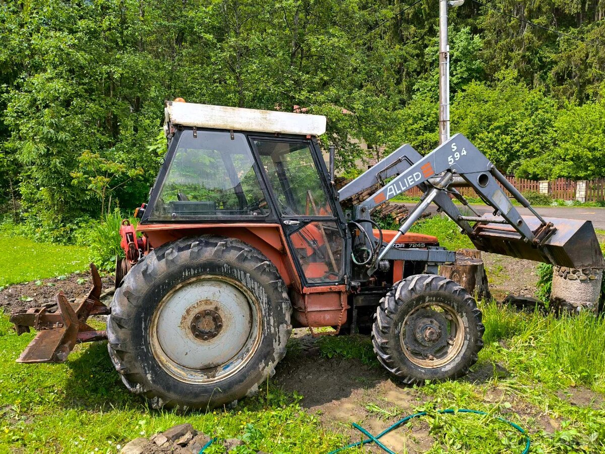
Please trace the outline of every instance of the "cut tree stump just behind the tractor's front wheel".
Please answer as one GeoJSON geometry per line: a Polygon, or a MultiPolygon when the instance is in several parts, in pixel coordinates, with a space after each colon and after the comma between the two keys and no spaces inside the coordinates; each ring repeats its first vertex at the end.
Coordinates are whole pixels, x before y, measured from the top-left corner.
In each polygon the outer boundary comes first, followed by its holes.
{"type": "Polygon", "coordinates": [[[442,265],[440,275],[463,286],[476,300],[490,299],[488,277],[481,260],[481,251],[460,249],[456,252],[456,263],[442,265]]]}

